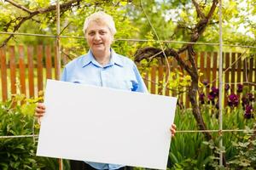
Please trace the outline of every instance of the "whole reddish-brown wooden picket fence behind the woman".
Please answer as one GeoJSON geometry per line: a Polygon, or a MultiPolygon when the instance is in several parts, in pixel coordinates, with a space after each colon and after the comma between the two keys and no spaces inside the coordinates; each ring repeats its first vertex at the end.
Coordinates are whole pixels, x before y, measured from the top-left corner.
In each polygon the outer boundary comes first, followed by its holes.
{"type": "MultiPolygon", "coordinates": [[[[253,55],[253,57],[246,58],[244,54],[224,53],[223,80],[225,83],[230,83],[234,92],[236,92],[236,83],[238,82],[247,82],[243,84],[256,90],[256,54],[253,55]]],[[[186,54],[183,54],[182,57],[186,58],[186,54]]],[[[201,82],[210,82],[210,87],[218,86],[218,53],[200,52],[197,53],[195,59],[198,69],[202,73],[201,82]]],[[[66,63],[67,58],[61,56],[61,61],[62,64],[66,63]]],[[[171,72],[183,72],[174,59],[169,61],[171,72]]],[[[59,78],[56,72],[56,62],[55,48],[52,46],[0,48],[0,94],[2,100],[9,99],[11,94],[16,94],[17,89],[20,90],[21,94],[26,94],[27,97],[38,96],[38,92],[44,90],[46,79],[59,78]]],[[[186,93],[178,94],[169,86],[163,90],[162,84],[166,81],[166,70],[166,65],[160,65],[152,66],[148,71],[143,71],[143,79],[148,91],[151,94],[178,95],[179,101],[189,107],[186,93]]],[[[206,91],[208,94],[210,88],[207,88],[206,91]]],[[[227,102],[226,98],[224,102],[227,102]]]]}

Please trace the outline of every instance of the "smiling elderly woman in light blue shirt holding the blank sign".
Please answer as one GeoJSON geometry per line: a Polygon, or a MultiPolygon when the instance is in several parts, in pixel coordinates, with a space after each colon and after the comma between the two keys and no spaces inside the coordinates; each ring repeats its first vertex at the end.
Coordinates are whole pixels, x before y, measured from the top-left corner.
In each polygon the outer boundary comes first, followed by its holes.
{"type": "MultiPolygon", "coordinates": [[[[110,47],[115,33],[112,16],[104,12],[96,12],[86,18],[84,35],[90,50],[87,54],[73,59],[65,66],[61,81],[148,93],[134,62],[127,57],[116,54],[110,47]]],[[[35,115],[40,118],[44,116],[44,112],[44,104],[38,104],[35,115]]],[[[172,136],[175,129],[175,125],[172,125],[170,128],[172,136]]],[[[128,169],[123,165],[71,161],[72,169],[75,169],[76,166],[79,166],[77,167],[79,170],[128,169]]]]}

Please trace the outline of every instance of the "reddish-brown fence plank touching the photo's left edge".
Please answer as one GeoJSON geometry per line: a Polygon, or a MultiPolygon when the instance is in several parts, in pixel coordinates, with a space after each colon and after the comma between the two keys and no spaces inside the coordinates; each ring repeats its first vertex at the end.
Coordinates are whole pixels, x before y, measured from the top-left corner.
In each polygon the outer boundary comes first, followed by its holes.
{"type": "Polygon", "coordinates": [[[6,50],[5,48],[0,48],[0,61],[1,61],[1,83],[2,83],[2,100],[6,101],[8,99],[7,94],[7,67],[6,67],[6,50]]]}

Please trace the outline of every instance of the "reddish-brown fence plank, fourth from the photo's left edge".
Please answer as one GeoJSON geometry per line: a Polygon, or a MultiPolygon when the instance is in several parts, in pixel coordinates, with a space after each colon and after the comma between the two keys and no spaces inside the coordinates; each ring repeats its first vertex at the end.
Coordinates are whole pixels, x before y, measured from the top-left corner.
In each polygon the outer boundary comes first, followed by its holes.
{"type": "Polygon", "coordinates": [[[27,47],[28,87],[29,97],[34,97],[34,74],[33,74],[33,47],[27,47]]]}

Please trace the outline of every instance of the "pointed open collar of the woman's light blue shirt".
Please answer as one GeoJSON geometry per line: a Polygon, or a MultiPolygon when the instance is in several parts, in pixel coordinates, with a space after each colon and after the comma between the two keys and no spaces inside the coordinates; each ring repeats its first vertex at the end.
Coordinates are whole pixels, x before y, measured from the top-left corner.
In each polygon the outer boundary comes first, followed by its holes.
{"type": "MultiPolygon", "coordinates": [[[[123,62],[120,59],[120,57],[118,56],[118,54],[116,54],[113,50],[113,48],[110,49],[111,51],[111,58],[110,61],[108,63],[108,65],[106,66],[110,66],[110,65],[119,65],[119,66],[123,66],[123,62]]],[[[99,63],[96,61],[96,59],[94,58],[93,54],[91,53],[91,50],[89,50],[89,52],[87,54],[84,55],[83,60],[82,60],[82,65],[83,67],[86,65],[89,65],[90,63],[93,63],[94,65],[100,66],[99,63]]]]}

